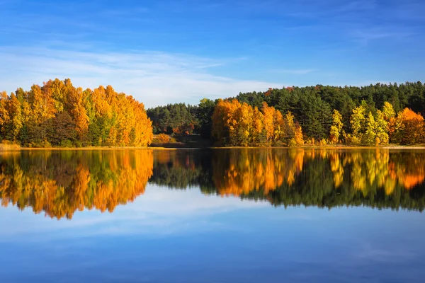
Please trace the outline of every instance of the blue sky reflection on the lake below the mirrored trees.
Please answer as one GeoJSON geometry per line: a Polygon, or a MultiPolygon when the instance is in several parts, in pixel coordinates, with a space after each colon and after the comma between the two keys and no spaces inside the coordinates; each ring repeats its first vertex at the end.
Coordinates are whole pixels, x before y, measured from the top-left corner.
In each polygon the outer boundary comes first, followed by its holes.
{"type": "Polygon", "coordinates": [[[425,216],[147,185],[71,221],[0,208],[0,282],[420,282],[425,216]]]}

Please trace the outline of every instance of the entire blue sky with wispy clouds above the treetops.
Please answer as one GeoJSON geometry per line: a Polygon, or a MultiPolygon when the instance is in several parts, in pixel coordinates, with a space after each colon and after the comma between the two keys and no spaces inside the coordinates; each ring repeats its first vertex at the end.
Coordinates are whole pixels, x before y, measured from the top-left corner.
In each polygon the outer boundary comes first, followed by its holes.
{"type": "Polygon", "coordinates": [[[0,0],[0,90],[111,84],[147,107],[424,81],[425,1],[0,0]]]}

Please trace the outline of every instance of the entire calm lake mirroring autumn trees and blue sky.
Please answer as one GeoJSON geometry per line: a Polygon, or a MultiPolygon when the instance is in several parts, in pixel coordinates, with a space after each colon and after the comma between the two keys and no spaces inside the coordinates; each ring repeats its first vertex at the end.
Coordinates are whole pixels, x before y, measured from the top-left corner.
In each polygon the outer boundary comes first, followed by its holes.
{"type": "Polygon", "coordinates": [[[424,282],[425,151],[0,153],[0,282],[424,282]]]}

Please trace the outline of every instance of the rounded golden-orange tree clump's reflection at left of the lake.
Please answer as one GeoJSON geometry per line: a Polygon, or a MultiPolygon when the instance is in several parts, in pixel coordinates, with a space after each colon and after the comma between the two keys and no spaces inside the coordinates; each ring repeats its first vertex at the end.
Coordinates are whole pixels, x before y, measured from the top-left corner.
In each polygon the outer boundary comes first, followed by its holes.
{"type": "Polygon", "coordinates": [[[23,151],[1,155],[1,204],[58,219],[79,209],[112,212],[145,192],[152,151],[23,151]]]}

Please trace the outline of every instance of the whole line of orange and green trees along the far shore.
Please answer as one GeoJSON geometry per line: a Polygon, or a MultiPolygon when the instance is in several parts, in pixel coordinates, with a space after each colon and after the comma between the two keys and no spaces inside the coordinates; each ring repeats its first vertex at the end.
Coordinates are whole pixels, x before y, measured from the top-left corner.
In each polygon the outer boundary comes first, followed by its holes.
{"type": "Polygon", "coordinates": [[[0,138],[30,147],[148,146],[153,134],[162,143],[195,134],[217,146],[421,144],[424,115],[421,82],[269,88],[145,111],[111,86],[55,79],[0,93],[0,138]]]}

